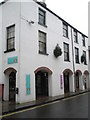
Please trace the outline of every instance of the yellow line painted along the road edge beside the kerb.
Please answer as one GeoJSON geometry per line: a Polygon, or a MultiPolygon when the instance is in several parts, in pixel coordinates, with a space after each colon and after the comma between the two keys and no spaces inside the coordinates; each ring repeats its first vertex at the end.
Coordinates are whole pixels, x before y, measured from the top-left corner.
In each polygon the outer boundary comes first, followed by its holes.
{"type": "Polygon", "coordinates": [[[9,116],[12,116],[12,115],[15,115],[15,114],[19,114],[19,113],[23,113],[23,112],[26,112],[26,111],[31,111],[31,110],[34,110],[34,109],[37,109],[37,108],[41,108],[41,107],[45,107],[45,106],[52,105],[52,104],[55,104],[55,103],[59,103],[60,101],[65,101],[65,100],[73,99],[73,98],[82,96],[84,94],[88,94],[88,93],[83,93],[83,94],[80,94],[80,95],[77,95],[77,96],[73,96],[73,97],[69,97],[69,98],[64,98],[62,100],[58,100],[58,101],[55,101],[55,102],[47,103],[47,104],[44,104],[44,105],[40,105],[40,106],[36,106],[36,107],[25,109],[25,110],[21,110],[21,111],[9,113],[9,114],[0,116],[0,118],[9,117],[9,116]]]}

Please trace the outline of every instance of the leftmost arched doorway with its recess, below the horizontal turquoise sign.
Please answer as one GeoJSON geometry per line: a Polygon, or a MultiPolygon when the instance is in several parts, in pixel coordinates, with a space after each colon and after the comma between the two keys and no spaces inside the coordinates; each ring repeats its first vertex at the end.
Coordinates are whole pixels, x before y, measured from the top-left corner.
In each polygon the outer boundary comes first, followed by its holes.
{"type": "Polygon", "coordinates": [[[16,72],[14,68],[4,71],[4,98],[10,102],[16,102],[16,72]]]}

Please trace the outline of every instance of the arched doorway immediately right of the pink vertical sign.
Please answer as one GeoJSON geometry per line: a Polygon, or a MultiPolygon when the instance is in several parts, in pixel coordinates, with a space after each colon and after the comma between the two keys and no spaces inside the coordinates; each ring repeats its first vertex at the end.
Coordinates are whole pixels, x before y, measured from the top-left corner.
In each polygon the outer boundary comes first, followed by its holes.
{"type": "Polygon", "coordinates": [[[72,75],[73,72],[70,69],[65,69],[63,72],[64,93],[69,93],[72,89],[72,75]]]}

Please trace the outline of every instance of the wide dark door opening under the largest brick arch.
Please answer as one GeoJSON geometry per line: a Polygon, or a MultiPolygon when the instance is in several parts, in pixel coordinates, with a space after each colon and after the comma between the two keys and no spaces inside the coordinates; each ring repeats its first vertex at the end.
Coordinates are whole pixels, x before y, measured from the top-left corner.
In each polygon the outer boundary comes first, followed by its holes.
{"type": "Polygon", "coordinates": [[[36,99],[48,96],[48,73],[39,71],[35,77],[36,77],[36,99]]]}

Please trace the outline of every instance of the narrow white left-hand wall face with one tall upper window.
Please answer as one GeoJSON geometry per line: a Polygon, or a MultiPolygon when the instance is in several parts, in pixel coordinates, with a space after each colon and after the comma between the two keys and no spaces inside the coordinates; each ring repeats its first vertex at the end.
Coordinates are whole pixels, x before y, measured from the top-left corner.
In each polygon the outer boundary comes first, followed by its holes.
{"type": "MultiPolygon", "coordinates": [[[[2,64],[2,75],[3,75],[3,83],[5,84],[6,88],[8,87],[6,84],[8,83],[9,79],[7,77],[7,79],[5,78],[5,74],[4,71],[7,68],[14,68],[17,71],[17,74],[19,74],[19,62],[20,62],[20,57],[19,57],[19,52],[20,52],[20,44],[19,44],[19,39],[20,39],[20,3],[19,2],[6,2],[4,5],[2,5],[2,60],[3,60],[3,64],[2,64]],[[7,34],[6,34],[6,28],[8,26],[11,26],[15,24],[15,51],[13,52],[8,52],[8,53],[4,53],[4,51],[6,51],[6,45],[7,45],[7,34]],[[9,57],[14,57],[14,56],[18,56],[18,63],[16,64],[8,64],[8,58],[9,57]]],[[[16,86],[19,87],[19,75],[17,75],[17,81],[16,81],[16,86]]],[[[4,98],[5,100],[8,100],[8,91],[4,87],[4,98]]],[[[17,98],[17,101],[18,98],[17,98]]]]}

